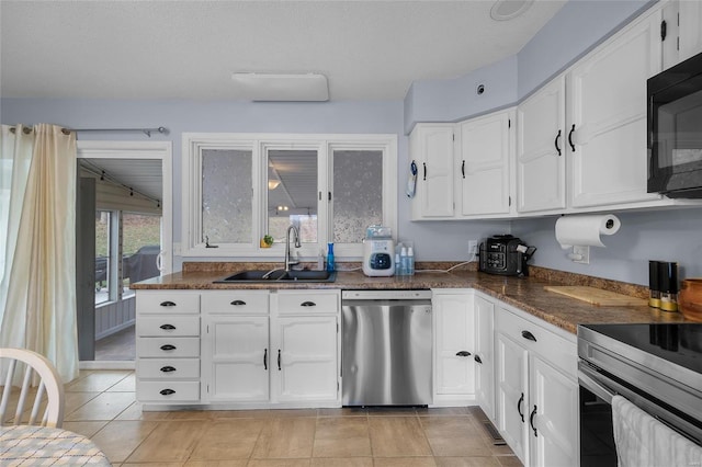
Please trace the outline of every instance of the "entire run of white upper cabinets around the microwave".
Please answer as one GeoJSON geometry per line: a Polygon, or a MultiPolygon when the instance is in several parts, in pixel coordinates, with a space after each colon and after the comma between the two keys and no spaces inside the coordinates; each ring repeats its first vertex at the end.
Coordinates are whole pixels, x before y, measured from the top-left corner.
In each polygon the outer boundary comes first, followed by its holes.
{"type": "Polygon", "coordinates": [[[516,111],[417,124],[412,220],[699,205],[647,191],[646,81],[702,50],[701,25],[702,2],[661,2],[516,111]]]}

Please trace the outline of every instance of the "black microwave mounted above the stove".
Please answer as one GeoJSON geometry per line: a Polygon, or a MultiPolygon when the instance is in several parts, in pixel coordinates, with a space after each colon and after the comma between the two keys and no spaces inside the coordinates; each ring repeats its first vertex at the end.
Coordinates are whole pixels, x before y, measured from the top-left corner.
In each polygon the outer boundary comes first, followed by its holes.
{"type": "Polygon", "coordinates": [[[649,78],[648,192],[702,198],[702,54],[649,78]]]}

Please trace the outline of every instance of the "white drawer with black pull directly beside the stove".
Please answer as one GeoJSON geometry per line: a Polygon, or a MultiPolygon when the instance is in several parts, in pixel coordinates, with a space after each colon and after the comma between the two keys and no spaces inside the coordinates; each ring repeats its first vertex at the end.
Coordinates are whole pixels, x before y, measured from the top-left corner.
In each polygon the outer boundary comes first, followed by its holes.
{"type": "Polygon", "coordinates": [[[502,307],[497,308],[497,329],[530,352],[575,376],[577,372],[577,345],[547,329],[533,323],[502,307]]]}

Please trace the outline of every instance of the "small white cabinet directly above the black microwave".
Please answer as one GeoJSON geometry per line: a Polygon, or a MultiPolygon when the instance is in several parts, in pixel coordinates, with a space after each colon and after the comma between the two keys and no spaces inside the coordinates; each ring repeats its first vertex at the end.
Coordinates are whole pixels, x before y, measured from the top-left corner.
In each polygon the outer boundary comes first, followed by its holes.
{"type": "Polygon", "coordinates": [[[702,52],[702,2],[669,0],[664,3],[663,68],[667,69],[702,52]]]}

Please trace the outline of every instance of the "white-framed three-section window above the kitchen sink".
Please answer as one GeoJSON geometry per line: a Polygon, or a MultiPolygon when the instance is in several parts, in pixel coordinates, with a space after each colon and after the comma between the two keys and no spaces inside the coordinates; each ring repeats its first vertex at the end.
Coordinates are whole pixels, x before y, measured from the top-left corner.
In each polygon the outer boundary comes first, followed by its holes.
{"type": "Polygon", "coordinates": [[[395,135],[183,135],[183,255],[282,257],[287,227],[299,255],[333,242],[360,258],[369,225],[397,231],[395,135]],[[270,235],[272,248],[261,248],[270,235]]]}

